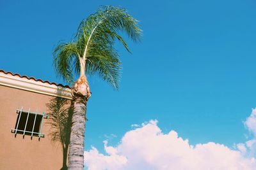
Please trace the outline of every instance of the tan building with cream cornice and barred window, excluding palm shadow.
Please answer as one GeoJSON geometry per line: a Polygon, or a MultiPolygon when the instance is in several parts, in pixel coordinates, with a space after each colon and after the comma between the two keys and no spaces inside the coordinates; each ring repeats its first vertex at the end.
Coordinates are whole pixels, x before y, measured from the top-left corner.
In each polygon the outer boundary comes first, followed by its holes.
{"type": "Polygon", "coordinates": [[[60,143],[47,124],[52,97],[71,99],[70,87],[0,70],[0,169],[61,169],[60,143]]]}

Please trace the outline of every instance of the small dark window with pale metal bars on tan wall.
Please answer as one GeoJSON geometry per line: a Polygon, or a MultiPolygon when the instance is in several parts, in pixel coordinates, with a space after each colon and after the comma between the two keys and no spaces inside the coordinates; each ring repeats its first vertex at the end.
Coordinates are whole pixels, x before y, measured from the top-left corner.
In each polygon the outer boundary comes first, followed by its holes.
{"type": "Polygon", "coordinates": [[[45,134],[42,133],[44,118],[48,118],[49,115],[43,113],[37,113],[30,111],[17,110],[16,113],[18,114],[17,122],[15,125],[15,129],[11,129],[12,133],[15,133],[15,137],[17,134],[23,134],[23,138],[25,135],[31,136],[38,136],[38,138],[44,138],[45,134]]]}

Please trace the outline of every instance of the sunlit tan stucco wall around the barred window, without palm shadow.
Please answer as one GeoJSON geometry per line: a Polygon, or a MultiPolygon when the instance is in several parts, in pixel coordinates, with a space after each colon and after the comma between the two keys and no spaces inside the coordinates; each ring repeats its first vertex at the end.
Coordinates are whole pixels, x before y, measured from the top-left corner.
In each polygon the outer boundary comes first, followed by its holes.
{"type": "Polygon", "coordinates": [[[16,110],[47,112],[46,103],[51,96],[0,85],[0,169],[61,169],[62,150],[60,144],[51,143],[47,119],[42,132],[45,138],[15,135],[16,110]]]}

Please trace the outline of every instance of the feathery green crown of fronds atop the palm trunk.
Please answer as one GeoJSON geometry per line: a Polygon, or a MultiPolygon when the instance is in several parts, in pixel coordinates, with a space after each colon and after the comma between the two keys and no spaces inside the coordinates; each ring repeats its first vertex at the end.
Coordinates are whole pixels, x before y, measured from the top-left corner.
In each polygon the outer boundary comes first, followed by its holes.
{"type": "Polygon", "coordinates": [[[140,40],[138,20],[131,17],[127,10],[102,6],[81,22],[72,42],[56,46],[53,54],[58,76],[73,83],[73,70],[80,77],[98,74],[114,89],[118,89],[121,62],[114,48],[115,41],[120,41],[130,52],[119,31],[125,32],[133,41],[140,40]]]}

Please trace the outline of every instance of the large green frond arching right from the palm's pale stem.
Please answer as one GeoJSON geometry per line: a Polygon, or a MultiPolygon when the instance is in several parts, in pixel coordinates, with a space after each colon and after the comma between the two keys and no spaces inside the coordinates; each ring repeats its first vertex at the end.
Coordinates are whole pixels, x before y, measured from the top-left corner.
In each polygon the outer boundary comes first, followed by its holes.
{"type": "Polygon", "coordinates": [[[123,8],[103,6],[83,22],[77,36],[84,38],[87,43],[86,51],[83,53],[86,58],[86,73],[98,73],[103,80],[117,89],[121,62],[113,45],[115,40],[118,40],[130,52],[127,43],[118,35],[118,31],[124,31],[129,38],[138,41],[141,36],[138,21],[123,8]]]}

